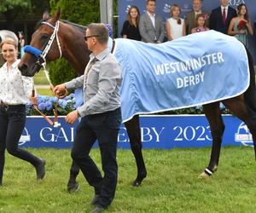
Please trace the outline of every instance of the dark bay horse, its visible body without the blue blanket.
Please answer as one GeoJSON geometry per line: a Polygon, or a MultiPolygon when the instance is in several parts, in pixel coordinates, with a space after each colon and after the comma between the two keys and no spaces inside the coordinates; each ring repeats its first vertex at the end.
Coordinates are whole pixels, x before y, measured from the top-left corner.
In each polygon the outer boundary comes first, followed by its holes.
{"type": "MultiPolygon", "coordinates": [[[[67,21],[59,21],[60,14],[61,12],[58,10],[52,18],[41,22],[36,32],[33,33],[31,45],[36,49],[44,51],[52,35],[55,35],[54,42],[46,55],[43,53],[43,56],[40,56],[39,58],[28,53],[24,55],[19,65],[22,75],[33,76],[35,72],[40,70],[42,62],[57,60],[61,55],[70,62],[79,74],[84,73],[84,67],[89,60],[88,55],[90,54],[86,43],[84,43],[85,28],[67,21]]],[[[249,87],[244,94],[223,100],[222,103],[225,107],[230,109],[236,117],[240,118],[245,124],[247,124],[248,129],[253,135],[254,153],[256,155],[256,91],[253,59],[248,51],[247,57],[250,69],[249,87]]],[[[212,87],[213,86],[214,83],[212,83],[212,87]]],[[[219,110],[219,104],[220,101],[216,101],[203,106],[212,132],[212,153],[207,169],[201,173],[201,177],[211,176],[218,168],[222,136],[224,135],[224,122],[219,110]]],[[[138,116],[135,116],[128,122],[125,122],[125,127],[130,138],[131,150],[137,163],[137,178],[133,182],[133,186],[139,186],[147,176],[147,170],[143,161],[138,116]]],[[[75,166],[73,166],[73,168],[75,168],[75,166]]],[[[75,178],[78,173],[77,170],[73,172],[73,168],[71,169],[72,180],[74,180],[73,178],[75,178]]]]}

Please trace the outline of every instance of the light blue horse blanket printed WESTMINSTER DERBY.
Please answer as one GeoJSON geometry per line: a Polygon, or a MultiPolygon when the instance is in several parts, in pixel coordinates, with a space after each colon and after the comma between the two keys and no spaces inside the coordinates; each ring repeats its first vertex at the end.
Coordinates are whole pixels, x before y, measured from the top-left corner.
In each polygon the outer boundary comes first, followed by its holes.
{"type": "Polygon", "coordinates": [[[116,39],[113,55],[123,68],[123,121],[222,101],[249,86],[249,66],[236,37],[208,31],[154,44],[116,39]]]}

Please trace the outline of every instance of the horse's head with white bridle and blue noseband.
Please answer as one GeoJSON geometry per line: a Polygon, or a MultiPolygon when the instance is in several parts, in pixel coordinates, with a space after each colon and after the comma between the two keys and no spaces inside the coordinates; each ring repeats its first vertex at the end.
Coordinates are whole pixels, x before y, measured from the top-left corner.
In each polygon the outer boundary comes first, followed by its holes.
{"type": "Polygon", "coordinates": [[[60,9],[52,18],[44,14],[44,20],[38,24],[30,45],[25,48],[26,54],[20,60],[18,67],[22,75],[32,77],[44,62],[61,57],[62,41],[61,33],[58,32],[60,16],[60,9]]]}

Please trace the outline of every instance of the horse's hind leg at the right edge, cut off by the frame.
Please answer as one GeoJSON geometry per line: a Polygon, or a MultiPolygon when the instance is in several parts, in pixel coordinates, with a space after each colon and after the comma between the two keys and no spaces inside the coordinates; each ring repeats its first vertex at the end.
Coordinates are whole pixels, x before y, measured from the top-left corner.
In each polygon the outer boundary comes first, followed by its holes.
{"type": "Polygon", "coordinates": [[[223,103],[224,106],[230,109],[237,118],[240,118],[245,124],[247,124],[247,128],[253,135],[254,153],[256,158],[256,112],[245,104],[243,95],[225,100],[223,103]]]}

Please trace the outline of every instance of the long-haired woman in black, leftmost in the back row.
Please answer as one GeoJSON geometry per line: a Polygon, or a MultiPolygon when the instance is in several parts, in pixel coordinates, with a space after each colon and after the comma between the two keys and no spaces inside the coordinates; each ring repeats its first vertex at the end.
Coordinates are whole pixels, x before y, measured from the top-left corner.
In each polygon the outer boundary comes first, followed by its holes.
{"type": "Polygon", "coordinates": [[[125,20],[121,36],[124,38],[130,38],[133,40],[141,41],[142,37],[139,32],[139,20],[140,11],[136,6],[131,6],[127,14],[127,20],[125,20]]]}

